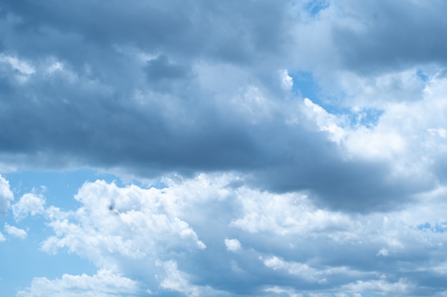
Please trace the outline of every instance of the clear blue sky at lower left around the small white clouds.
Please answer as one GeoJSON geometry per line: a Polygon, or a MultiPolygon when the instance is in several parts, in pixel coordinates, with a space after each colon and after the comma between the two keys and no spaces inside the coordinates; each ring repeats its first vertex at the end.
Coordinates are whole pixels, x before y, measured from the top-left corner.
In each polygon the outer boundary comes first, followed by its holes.
{"type": "MultiPolygon", "coordinates": [[[[116,182],[122,186],[121,180],[113,174],[103,174],[90,169],[81,169],[68,172],[57,171],[23,171],[2,174],[9,181],[11,191],[14,193],[14,202],[19,202],[26,193],[41,194],[46,200],[46,207],[50,205],[64,210],[74,210],[81,204],[74,199],[74,195],[85,182],[94,182],[104,179],[106,182],[116,182]]],[[[2,296],[16,296],[18,290],[24,289],[33,277],[59,278],[64,273],[93,275],[96,268],[86,259],[76,254],[67,254],[59,251],[55,255],[41,251],[41,243],[49,236],[54,235],[53,229],[46,225],[42,215],[26,217],[16,222],[12,212],[0,222],[0,231],[6,241],[0,243],[0,287],[2,296]],[[4,231],[8,224],[26,231],[26,238],[20,239],[4,231]],[[2,283],[8,286],[2,286],[2,283]]]]}

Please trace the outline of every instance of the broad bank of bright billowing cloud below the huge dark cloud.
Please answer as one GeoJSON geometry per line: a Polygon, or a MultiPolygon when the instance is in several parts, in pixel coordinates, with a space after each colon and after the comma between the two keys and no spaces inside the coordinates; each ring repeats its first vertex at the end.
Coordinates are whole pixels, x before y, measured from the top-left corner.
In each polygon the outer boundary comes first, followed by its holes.
{"type": "Polygon", "coordinates": [[[446,188],[396,212],[359,216],[318,209],[305,193],[232,186],[237,180],[201,174],[165,179],[163,189],[87,182],[79,209],[45,209],[54,236],[41,249],[89,259],[99,274],[35,278],[19,296],[70,294],[78,290],[71,278],[99,296],[447,293],[446,188]],[[117,282],[91,284],[106,276],[117,282]]]}

